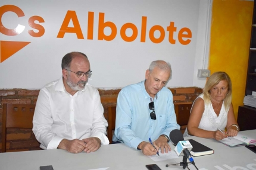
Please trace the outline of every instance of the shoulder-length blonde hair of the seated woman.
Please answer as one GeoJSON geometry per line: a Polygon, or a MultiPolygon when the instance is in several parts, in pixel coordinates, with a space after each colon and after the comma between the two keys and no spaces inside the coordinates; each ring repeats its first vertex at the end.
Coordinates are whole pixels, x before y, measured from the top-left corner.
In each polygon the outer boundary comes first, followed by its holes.
{"type": "Polygon", "coordinates": [[[205,104],[211,104],[211,94],[210,94],[210,89],[213,88],[213,86],[217,85],[220,81],[226,80],[227,81],[227,95],[226,98],[224,99],[224,106],[227,110],[229,108],[229,105],[232,102],[232,82],[227,75],[226,72],[215,72],[213,75],[210,76],[208,81],[205,84],[203,94],[204,94],[204,101],[205,104]]]}

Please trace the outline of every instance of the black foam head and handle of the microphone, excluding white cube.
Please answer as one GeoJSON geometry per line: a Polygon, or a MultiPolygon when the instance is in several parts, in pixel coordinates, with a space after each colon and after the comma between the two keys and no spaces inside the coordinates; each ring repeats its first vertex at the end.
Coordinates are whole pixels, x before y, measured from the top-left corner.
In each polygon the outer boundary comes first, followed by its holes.
{"type": "MultiPolygon", "coordinates": [[[[170,132],[170,140],[176,146],[180,141],[184,140],[182,132],[178,129],[174,129],[170,132]]],[[[188,149],[184,149],[183,154],[186,156],[187,159],[189,159],[189,161],[191,161],[192,164],[195,164],[188,149]]]]}

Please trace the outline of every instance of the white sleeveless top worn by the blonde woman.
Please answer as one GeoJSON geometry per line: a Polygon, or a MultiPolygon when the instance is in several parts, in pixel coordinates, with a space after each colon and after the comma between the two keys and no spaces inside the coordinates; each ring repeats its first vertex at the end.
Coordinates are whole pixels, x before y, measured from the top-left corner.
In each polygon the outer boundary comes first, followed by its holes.
{"type": "MultiPolygon", "coordinates": [[[[202,100],[204,100],[203,94],[199,95],[199,97],[201,97],[202,100]]],[[[227,112],[228,111],[229,111],[229,108],[226,111],[224,102],[221,105],[220,114],[218,116],[214,112],[212,104],[204,105],[204,113],[202,114],[202,118],[201,118],[198,128],[204,129],[204,130],[209,130],[209,131],[216,131],[217,128],[224,130],[225,127],[227,126],[227,112]]],[[[186,128],[183,136],[190,136],[188,134],[187,128],[186,128]]]]}

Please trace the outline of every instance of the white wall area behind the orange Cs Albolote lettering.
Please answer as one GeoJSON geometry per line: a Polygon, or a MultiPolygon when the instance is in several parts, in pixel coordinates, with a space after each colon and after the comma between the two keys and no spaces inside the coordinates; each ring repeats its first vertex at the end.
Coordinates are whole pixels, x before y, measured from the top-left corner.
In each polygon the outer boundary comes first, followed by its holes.
{"type": "MultiPolygon", "coordinates": [[[[205,84],[205,78],[199,79],[196,75],[198,69],[208,67],[211,0],[2,0],[0,13],[3,13],[4,5],[15,5],[24,12],[24,17],[4,12],[1,18],[4,28],[12,30],[18,24],[25,28],[16,36],[8,36],[0,26],[1,44],[3,41],[30,43],[0,63],[0,88],[41,88],[60,78],[61,59],[72,51],[88,56],[92,70],[89,83],[97,88],[121,88],[142,81],[152,60],[171,63],[173,75],[167,84],[169,87],[203,87],[205,84]],[[77,39],[74,33],[65,33],[63,38],[57,38],[68,10],[76,11],[84,39],[77,39]],[[87,38],[89,11],[94,12],[93,40],[87,38]],[[117,35],[111,41],[98,40],[99,12],[105,14],[105,22],[111,21],[117,27],[117,35]],[[35,21],[45,30],[40,37],[28,33],[29,30],[38,31],[28,23],[29,18],[35,15],[44,20],[43,23],[35,21]],[[147,18],[145,43],[141,42],[142,16],[147,18]],[[168,41],[170,22],[177,27],[173,34],[175,44],[168,41]],[[120,29],[126,23],[133,23],[138,28],[138,37],[132,42],[124,41],[120,36],[120,29]],[[149,39],[149,30],[154,25],[165,30],[161,43],[153,43],[149,39]],[[183,27],[192,31],[191,42],[187,45],[181,44],[177,38],[183,27]]],[[[73,27],[73,22],[68,27],[73,27]]],[[[111,29],[106,27],[104,33],[111,34],[111,29]]],[[[132,35],[133,31],[127,29],[126,36],[132,35]]],[[[160,37],[160,31],[155,31],[154,37],[160,37]]],[[[6,48],[12,47],[1,46],[1,57],[6,48]]]]}

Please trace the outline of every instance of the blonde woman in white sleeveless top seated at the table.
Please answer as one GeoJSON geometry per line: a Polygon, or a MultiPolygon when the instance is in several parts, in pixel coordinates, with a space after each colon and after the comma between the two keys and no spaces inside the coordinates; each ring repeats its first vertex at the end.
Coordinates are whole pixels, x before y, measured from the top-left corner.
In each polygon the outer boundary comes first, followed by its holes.
{"type": "Polygon", "coordinates": [[[239,131],[232,105],[232,82],[225,72],[208,79],[204,91],[193,102],[188,127],[183,136],[221,140],[239,131]],[[220,130],[226,132],[222,133],[220,130]]]}

